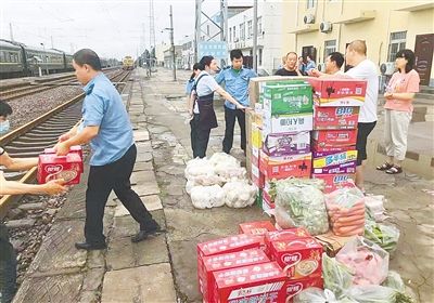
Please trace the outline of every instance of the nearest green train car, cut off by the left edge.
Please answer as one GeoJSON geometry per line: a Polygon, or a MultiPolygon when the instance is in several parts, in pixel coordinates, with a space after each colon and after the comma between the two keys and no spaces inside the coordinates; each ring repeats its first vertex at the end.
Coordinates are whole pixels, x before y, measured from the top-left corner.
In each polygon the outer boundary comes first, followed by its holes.
{"type": "Polygon", "coordinates": [[[0,39],[0,78],[20,77],[25,69],[23,48],[0,39]]]}

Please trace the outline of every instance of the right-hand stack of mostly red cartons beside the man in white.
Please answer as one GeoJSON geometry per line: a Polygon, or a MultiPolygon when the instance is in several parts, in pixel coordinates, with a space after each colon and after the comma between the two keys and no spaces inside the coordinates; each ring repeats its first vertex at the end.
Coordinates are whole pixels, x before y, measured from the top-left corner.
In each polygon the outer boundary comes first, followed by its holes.
{"type": "Polygon", "coordinates": [[[359,106],[363,105],[366,81],[309,78],[314,89],[311,133],[312,177],[322,179],[324,193],[353,186],[356,173],[356,141],[359,106]]]}

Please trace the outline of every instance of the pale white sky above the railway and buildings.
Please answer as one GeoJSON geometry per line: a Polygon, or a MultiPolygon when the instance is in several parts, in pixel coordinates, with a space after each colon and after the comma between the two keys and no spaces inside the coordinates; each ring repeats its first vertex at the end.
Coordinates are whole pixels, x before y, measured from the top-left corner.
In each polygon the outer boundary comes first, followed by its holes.
{"type": "MultiPolygon", "coordinates": [[[[229,0],[252,4],[253,0],[229,0]]],[[[154,0],[155,41],[169,43],[169,5],[174,12],[175,43],[194,34],[195,0],[154,0]]],[[[218,0],[206,0],[203,10],[218,12],[218,0]]],[[[94,50],[101,57],[136,57],[150,45],[150,0],[1,0],[0,38],[27,45],[74,53],[94,50]]]]}

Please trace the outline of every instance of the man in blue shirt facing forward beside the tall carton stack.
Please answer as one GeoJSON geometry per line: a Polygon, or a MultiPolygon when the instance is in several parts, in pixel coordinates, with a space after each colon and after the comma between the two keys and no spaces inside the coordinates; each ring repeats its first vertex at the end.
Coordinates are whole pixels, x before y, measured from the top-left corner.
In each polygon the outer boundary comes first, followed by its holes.
{"type": "MultiPolygon", "coordinates": [[[[248,107],[248,81],[251,78],[257,77],[257,75],[252,69],[243,67],[243,53],[241,50],[232,50],[230,52],[230,60],[232,66],[221,70],[217,75],[216,81],[219,84],[225,82],[226,91],[242,105],[248,107]]],[[[235,119],[241,130],[241,149],[245,154],[245,111],[237,109],[235,105],[229,101],[225,101],[226,130],[222,149],[226,154],[229,154],[232,148],[235,119]]]]}

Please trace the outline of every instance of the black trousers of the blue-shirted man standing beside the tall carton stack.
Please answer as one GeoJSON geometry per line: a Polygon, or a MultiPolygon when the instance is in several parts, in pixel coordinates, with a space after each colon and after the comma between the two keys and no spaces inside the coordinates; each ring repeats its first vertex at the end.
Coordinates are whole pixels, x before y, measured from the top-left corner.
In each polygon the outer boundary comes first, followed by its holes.
{"type": "Polygon", "coordinates": [[[225,106],[225,139],[224,152],[229,154],[233,144],[233,129],[235,127],[235,119],[241,130],[241,149],[245,150],[245,113],[241,109],[229,109],[225,106]]]}

